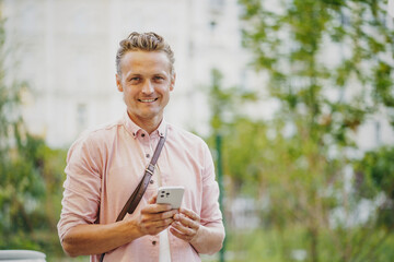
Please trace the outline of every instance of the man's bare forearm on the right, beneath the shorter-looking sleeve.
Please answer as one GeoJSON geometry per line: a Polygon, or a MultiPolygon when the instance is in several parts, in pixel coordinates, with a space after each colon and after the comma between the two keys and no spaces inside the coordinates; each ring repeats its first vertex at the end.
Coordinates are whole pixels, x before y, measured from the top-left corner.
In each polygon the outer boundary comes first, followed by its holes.
{"type": "Polygon", "coordinates": [[[224,236],[225,233],[222,225],[219,227],[201,225],[190,243],[198,253],[213,254],[222,248],[224,236]]]}

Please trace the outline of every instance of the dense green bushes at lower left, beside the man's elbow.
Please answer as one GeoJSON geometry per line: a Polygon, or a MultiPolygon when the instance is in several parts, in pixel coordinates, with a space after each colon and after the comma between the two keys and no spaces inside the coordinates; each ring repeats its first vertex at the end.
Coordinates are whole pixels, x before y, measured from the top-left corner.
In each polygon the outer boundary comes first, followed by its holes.
{"type": "MultiPolygon", "coordinates": [[[[21,123],[19,124],[21,126],[21,123]]],[[[19,129],[15,129],[19,130],[19,129]]],[[[59,252],[56,224],[60,214],[66,152],[18,131],[16,145],[0,164],[0,249],[59,252]],[[23,134],[25,138],[18,138],[23,134]],[[7,159],[7,160],[4,160],[7,159]]]]}

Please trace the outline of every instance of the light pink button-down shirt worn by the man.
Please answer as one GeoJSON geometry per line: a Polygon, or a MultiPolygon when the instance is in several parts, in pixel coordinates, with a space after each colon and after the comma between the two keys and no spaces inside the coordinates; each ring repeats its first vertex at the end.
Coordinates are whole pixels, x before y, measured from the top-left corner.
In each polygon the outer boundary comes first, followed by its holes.
{"type": "MultiPolygon", "coordinates": [[[[59,238],[80,224],[108,224],[116,221],[124,204],[141,180],[143,170],[159,142],[166,141],[151,183],[134,214],[162,186],[184,186],[182,206],[201,217],[201,225],[222,227],[219,188],[215,180],[212,157],[198,136],[164,120],[150,135],[135,124],[127,114],[115,123],[83,133],[70,147],[67,157],[59,238]],[[99,214],[100,213],[100,214],[99,214]]],[[[130,216],[126,215],[125,219],[130,216]]],[[[169,231],[172,261],[200,261],[196,250],[169,231]]],[[[91,261],[99,261],[92,255],[91,261]]],[[[159,261],[159,235],[144,236],[105,255],[104,261],[159,261]]]]}

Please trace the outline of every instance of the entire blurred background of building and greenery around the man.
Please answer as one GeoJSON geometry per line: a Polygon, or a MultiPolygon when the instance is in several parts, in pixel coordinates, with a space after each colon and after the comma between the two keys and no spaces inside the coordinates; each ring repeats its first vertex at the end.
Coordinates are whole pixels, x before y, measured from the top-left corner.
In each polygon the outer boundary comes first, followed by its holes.
{"type": "Polygon", "coordinates": [[[62,253],[68,147],[121,116],[132,31],[175,52],[165,118],[217,164],[227,239],[204,261],[393,261],[392,2],[0,0],[0,249],[62,253]]]}

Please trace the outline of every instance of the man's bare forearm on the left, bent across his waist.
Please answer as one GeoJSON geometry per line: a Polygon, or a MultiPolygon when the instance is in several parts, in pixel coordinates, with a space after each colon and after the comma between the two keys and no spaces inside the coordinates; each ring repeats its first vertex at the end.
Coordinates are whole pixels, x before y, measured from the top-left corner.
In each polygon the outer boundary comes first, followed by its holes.
{"type": "Polygon", "coordinates": [[[141,236],[132,221],[108,225],[78,225],[66,234],[61,246],[70,257],[100,254],[141,236]]]}

